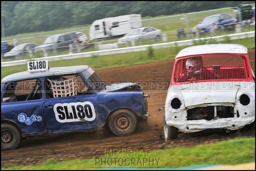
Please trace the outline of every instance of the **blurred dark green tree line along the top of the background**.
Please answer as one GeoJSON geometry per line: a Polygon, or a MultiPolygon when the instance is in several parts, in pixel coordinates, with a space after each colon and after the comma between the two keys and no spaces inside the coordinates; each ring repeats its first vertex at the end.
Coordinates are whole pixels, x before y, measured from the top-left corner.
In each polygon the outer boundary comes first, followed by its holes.
{"type": "Polygon", "coordinates": [[[10,36],[91,24],[119,15],[155,17],[252,3],[255,1],[1,1],[1,24],[5,36],[10,36]]]}

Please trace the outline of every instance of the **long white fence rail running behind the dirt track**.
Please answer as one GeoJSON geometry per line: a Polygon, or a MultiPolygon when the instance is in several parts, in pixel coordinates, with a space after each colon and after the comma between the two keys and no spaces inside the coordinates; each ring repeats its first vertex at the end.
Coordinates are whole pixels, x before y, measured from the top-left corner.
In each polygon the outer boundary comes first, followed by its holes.
{"type": "MultiPolygon", "coordinates": [[[[236,34],[230,34],[230,35],[220,35],[220,36],[215,36],[215,38],[217,38],[219,41],[221,41],[221,40],[224,40],[226,36],[230,37],[230,40],[242,39],[242,38],[247,38],[247,37],[255,37],[255,31],[236,33],[236,34]]],[[[210,39],[210,37],[200,38],[200,39],[208,40],[208,39],[210,39]]],[[[100,56],[100,55],[110,55],[110,54],[127,53],[127,52],[146,51],[149,46],[152,46],[152,48],[154,48],[154,49],[158,49],[158,48],[168,48],[168,47],[174,47],[174,46],[193,45],[194,40],[198,41],[199,38],[175,41],[175,42],[168,42],[168,43],[157,43],[157,44],[152,44],[152,45],[142,45],[142,46],[127,47],[127,48],[118,48],[118,49],[110,49],[110,50],[91,51],[91,52],[51,56],[51,57],[44,57],[44,58],[34,58],[31,60],[48,59],[48,61],[54,61],[54,60],[63,60],[63,59],[74,59],[74,58],[88,58],[88,57],[91,57],[92,55],[100,56]]],[[[26,65],[29,60],[30,59],[2,62],[1,67],[26,65]]]]}

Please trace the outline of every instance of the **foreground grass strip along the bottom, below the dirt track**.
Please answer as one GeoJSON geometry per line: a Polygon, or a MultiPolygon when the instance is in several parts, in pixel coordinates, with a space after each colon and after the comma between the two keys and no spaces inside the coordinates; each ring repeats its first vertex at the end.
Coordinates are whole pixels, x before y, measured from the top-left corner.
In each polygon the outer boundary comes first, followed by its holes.
{"type": "MultiPolygon", "coordinates": [[[[144,151],[145,152],[145,151],[144,151]]],[[[122,155],[122,154],[121,154],[122,155]]],[[[105,157],[102,156],[104,159],[105,157]]],[[[109,157],[107,157],[108,159],[109,157]]],[[[113,156],[112,159],[115,157],[113,156]]],[[[119,159],[120,157],[117,157],[119,159]]],[[[148,157],[135,157],[135,153],[133,153],[132,157],[123,157],[133,158],[136,161],[143,161],[145,158],[155,158],[160,159],[158,165],[149,166],[148,163],[144,163],[143,165],[137,166],[126,166],[121,165],[122,167],[165,167],[165,168],[176,168],[176,167],[188,167],[188,166],[196,166],[196,165],[235,165],[241,163],[248,163],[255,161],[255,138],[236,138],[230,139],[227,141],[222,141],[218,143],[211,144],[202,144],[195,147],[176,147],[169,148],[164,150],[157,150],[148,153],[148,157]]],[[[99,158],[101,159],[101,158],[99,158]]],[[[17,166],[12,165],[9,167],[2,168],[3,170],[11,170],[11,169],[26,169],[26,170],[65,170],[65,169],[96,169],[101,167],[101,164],[95,164],[96,159],[74,159],[68,161],[57,161],[57,160],[47,160],[42,165],[29,165],[29,166],[17,166]]],[[[136,162],[135,162],[136,163],[136,162]]],[[[107,166],[103,165],[103,167],[120,167],[117,162],[117,166],[107,166]]]]}

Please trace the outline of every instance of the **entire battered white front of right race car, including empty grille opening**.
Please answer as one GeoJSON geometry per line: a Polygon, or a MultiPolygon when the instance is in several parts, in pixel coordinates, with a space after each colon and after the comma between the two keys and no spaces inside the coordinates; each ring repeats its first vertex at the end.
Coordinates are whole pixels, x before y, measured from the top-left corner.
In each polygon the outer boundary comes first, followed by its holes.
{"type": "Polygon", "coordinates": [[[203,82],[169,88],[165,103],[168,125],[195,132],[208,128],[239,129],[255,120],[254,82],[226,82],[226,90],[214,89],[214,82],[200,90],[198,84],[205,86],[203,82]]]}

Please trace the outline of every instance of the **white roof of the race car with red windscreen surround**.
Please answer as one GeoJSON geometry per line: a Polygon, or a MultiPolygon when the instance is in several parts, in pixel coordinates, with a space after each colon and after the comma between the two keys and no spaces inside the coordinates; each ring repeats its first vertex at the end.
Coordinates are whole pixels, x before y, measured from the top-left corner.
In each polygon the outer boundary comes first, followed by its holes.
{"type": "Polygon", "coordinates": [[[175,58],[188,55],[200,55],[208,53],[237,53],[247,54],[247,48],[240,44],[205,44],[191,46],[181,50],[175,58]]]}

